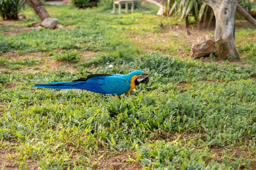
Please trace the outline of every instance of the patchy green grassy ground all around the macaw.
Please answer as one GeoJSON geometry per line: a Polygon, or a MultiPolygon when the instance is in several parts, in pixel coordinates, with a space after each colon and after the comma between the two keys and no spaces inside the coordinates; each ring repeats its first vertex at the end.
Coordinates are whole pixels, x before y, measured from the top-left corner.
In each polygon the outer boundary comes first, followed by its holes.
{"type": "Polygon", "coordinates": [[[213,31],[191,25],[186,36],[154,6],[46,8],[65,29],[31,27],[29,7],[26,20],[0,23],[1,168],[256,168],[254,28],[236,23],[240,61],[192,60],[191,42],[213,31]],[[136,69],[150,82],[120,99],[26,84],[136,69]]]}

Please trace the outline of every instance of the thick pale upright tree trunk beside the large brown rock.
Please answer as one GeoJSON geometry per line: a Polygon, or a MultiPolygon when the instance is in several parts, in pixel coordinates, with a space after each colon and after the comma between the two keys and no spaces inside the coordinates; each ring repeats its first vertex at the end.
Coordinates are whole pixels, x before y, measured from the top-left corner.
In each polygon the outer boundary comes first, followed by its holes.
{"type": "Polygon", "coordinates": [[[234,40],[235,12],[238,0],[202,0],[209,5],[216,18],[215,43],[220,57],[236,56],[239,53],[234,40]]]}

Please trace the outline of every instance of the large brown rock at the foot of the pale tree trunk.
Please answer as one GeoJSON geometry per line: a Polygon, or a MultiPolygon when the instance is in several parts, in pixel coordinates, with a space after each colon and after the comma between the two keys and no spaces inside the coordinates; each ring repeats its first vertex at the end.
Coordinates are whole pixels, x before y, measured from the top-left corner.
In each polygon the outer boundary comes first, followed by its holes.
{"type": "Polygon", "coordinates": [[[196,41],[193,42],[191,47],[191,57],[201,58],[203,56],[210,55],[211,53],[216,53],[215,40],[211,36],[202,36],[199,37],[196,41]]]}

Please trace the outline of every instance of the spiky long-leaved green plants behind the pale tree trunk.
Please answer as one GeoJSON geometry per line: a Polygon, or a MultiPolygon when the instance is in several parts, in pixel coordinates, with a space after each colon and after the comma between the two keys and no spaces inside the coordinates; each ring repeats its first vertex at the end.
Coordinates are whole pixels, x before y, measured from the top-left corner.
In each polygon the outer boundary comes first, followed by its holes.
{"type": "MultiPolygon", "coordinates": [[[[238,3],[247,11],[250,11],[256,4],[250,0],[238,0],[238,3]]],[[[206,21],[208,21],[206,24],[209,25],[214,18],[211,7],[201,0],[167,0],[164,14],[165,16],[180,17],[181,20],[186,17],[194,17],[197,22],[204,22],[204,25],[206,21]]]]}

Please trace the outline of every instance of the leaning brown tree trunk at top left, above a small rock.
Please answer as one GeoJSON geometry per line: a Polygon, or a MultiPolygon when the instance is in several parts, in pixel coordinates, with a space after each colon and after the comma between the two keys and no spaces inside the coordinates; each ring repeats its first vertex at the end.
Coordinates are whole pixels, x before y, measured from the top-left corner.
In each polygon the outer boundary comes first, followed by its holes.
{"type": "Polygon", "coordinates": [[[43,6],[40,0],[26,0],[27,4],[31,6],[39,16],[39,18],[43,21],[46,18],[50,18],[49,13],[46,11],[45,7],[43,6]]]}

